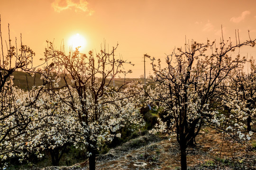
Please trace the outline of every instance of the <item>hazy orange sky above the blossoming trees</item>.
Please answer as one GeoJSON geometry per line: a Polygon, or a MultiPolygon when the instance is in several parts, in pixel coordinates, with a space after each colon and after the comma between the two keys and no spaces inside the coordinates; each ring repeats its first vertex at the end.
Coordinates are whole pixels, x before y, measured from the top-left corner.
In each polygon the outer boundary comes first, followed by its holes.
{"type": "MultiPolygon", "coordinates": [[[[220,39],[256,38],[256,0],[0,0],[2,34],[8,40],[19,38],[36,52],[36,61],[44,55],[46,40],[59,48],[74,34],[84,36],[87,46],[82,53],[100,50],[105,39],[110,50],[119,42],[123,59],[135,64],[128,77],[144,74],[143,54],[165,58],[174,47],[187,39],[206,42],[220,39]]],[[[256,48],[245,54],[256,56],[256,48]]],[[[256,57],[254,57],[256,58],[256,57]]],[[[146,64],[148,75],[151,66],[146,64]]],[[[152,71],[151,71],[152,73],[152,71]]]]}

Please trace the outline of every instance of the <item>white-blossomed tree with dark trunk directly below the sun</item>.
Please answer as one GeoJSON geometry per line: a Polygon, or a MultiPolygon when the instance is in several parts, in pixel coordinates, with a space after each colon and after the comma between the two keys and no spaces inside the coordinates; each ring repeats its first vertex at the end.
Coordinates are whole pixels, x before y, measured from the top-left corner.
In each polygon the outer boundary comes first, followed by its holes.
{"type": "Polygon", "coordinates": [[[65,55],[50,42],[45,52],[46,60],[52,59],[58,76],[66,82],[64,88],[69,96],[62,100],[76,113],[77,123],[82,127],[80,143],[86,146],[90,170],[95,170],[97,149],[102,141],[110,142],[114,136],[120,136],[116,132],[126,124],[142,123],[137,100],[142,88],[134,84],[110,86],[120,67],[127,63],[112,59],[115,50],[110,53],[101,50],[93,56],[92,51],[85,55],[76,49],[65,55]]]}

